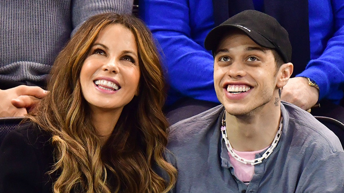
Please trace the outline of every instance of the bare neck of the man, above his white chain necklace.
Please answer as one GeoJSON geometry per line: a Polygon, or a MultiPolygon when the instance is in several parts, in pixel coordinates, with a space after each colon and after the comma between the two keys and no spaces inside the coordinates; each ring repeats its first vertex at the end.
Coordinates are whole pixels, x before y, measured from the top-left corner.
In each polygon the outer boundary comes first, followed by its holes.
{"type": "Polygon", "coordinates": [[[237,151],[258,151],[271,145],[281,118],[280,104],[272,108],[266,104],[241,116],[225,113],[227,137],[237,151]]]}

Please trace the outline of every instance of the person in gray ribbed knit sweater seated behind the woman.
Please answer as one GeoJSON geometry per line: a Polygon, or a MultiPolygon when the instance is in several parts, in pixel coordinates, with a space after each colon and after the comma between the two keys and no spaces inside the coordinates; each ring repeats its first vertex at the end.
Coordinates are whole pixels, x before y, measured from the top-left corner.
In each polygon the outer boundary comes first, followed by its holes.
{"type": "Polygon", "coordinates": [[[105,12],[130,14],[133,0],[1,0],[0,117],[23,116],[45,96],[55,57],[78,27],[105,12]]]}

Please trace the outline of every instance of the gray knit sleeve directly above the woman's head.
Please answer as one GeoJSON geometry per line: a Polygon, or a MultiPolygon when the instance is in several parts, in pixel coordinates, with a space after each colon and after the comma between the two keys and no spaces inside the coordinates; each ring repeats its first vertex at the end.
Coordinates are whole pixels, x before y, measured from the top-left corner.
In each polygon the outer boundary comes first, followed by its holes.
{"type": "Polygon", "coordinates": [[[73,32],[88,18],[100,13],[131,14],[133,0],[74,0],[72,1],[73,32]]]}

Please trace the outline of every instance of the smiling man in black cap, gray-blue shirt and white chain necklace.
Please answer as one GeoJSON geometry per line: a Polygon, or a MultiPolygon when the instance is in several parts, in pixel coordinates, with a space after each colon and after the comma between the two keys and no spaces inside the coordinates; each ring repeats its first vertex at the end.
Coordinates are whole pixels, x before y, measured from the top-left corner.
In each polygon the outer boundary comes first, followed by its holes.
{"type": "Polygon", "coordinates": [[[170,128],[176,192],[343,192],[344,151],[311,114],[280,102],[293,71],[287,31],[247,10],[205,39],[222,105],[170,128]]]}

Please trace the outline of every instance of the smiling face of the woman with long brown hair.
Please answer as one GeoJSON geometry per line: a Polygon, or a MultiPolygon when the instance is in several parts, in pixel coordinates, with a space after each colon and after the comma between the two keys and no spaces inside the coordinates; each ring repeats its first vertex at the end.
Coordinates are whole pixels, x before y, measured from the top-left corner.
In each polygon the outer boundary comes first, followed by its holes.
{"type": "Polygon", "coordinates": [[[94,111],[122,111],[139,92],[135,37],[121,24],[102,29],[80,71],[84,98],[94,111]]]}

